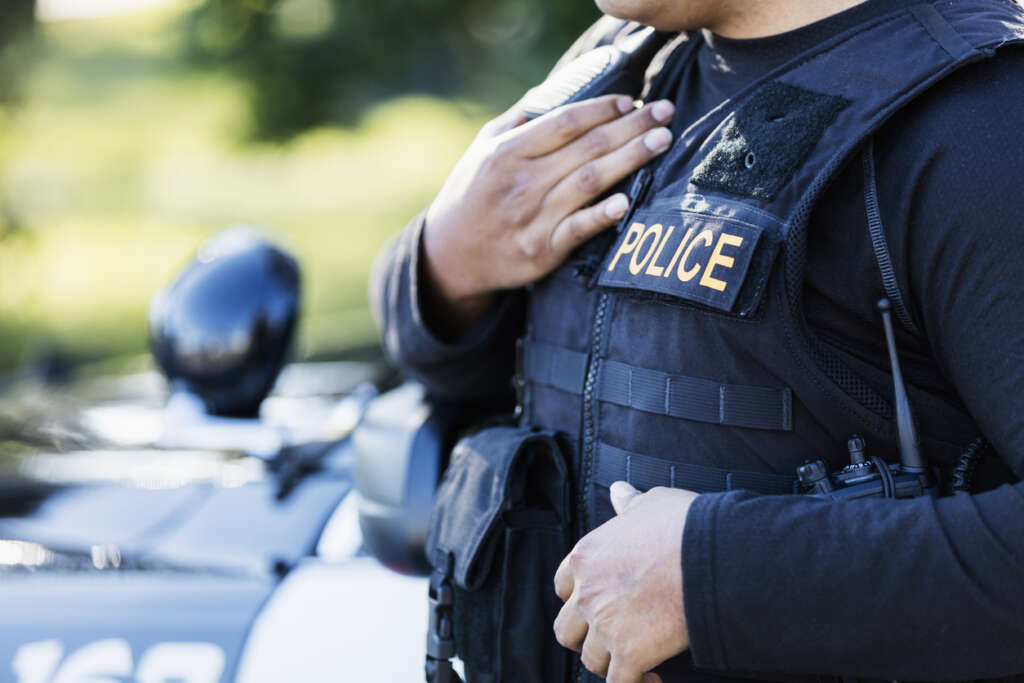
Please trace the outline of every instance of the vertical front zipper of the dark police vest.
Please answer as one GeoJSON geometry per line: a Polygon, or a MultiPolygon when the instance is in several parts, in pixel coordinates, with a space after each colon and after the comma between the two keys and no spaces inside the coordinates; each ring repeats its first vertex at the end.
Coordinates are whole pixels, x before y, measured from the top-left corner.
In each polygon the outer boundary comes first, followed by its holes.
{"type": "MultiPolygon", "coordinates": [[[[636,178],[630,184],[630,208],[626,212],[626,215],[623,216],[618,227],[615,228],[617,232],[622,232],[623,227],[633,218],[636,208],[643,202],[644,197],[647,195],[650,181],[651,172],[646,168],[640,169],[636,178]]],[[[598,274],[599,272],[593,275],[590,283],[591,287],[597,283],[598,274]]],[[[580,458],[580,488],[577,497],[579,508],[579,514],[577,515],[579,520],[577,523],[578,537],[583,536],[588,525],[587,510],[589,509],[591,489],[590,472],[594,459],[594,447],[597,443],[597,425],[594,420],[594,391],[597,385],[598,368],[597,356],[601,351],[601,343],[604,340],[604,324],[608,312],[608,300],[610,298],[607,292],[601,292],[597,300],[597,310],[594,313],[594,324],[591,331],[590,359],[587,364],[587,377],[583,388],[583,446],[580,458]]],[[[573,666],[575,667],[577,683],[583,683],[584,668],[579,661],[574,661],[573,666]]]]}

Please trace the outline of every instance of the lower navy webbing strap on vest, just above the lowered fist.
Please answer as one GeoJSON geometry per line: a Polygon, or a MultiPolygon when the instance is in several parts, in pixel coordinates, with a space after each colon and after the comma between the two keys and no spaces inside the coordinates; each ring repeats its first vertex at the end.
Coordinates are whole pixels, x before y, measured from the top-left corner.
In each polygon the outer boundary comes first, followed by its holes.
{"type": "Polygon", "coordinates": [[[594,481],[603,486],[610,486],[615,481],[626,481],[640,490],[670,486],[698,494],[737,489],[766,495],[796,493],[796,479],[792,476],[770,472],[733,472],[692,465],[630,453],[607,443],[599,443],[597,446],[594,481]]]}

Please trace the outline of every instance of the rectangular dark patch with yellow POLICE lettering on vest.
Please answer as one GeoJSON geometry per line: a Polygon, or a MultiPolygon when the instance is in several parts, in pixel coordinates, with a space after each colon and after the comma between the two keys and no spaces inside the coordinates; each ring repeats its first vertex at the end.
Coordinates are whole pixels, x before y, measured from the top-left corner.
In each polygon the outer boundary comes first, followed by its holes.
{"type": "Polygon", "coordinates": [[[608,253],[598,284],[730,311],[763,232],[735,218],[638,212],[608,253]]]}

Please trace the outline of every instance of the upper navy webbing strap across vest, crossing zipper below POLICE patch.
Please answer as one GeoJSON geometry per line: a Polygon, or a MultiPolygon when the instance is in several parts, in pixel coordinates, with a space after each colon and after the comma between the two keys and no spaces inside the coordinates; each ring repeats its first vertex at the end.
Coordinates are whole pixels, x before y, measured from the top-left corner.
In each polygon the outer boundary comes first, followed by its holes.
{"type": "MultiPolygon", "coordinates": [[[[526,340],[522,344],[523,379],[582,394],[588,355],[526,340]]],[[[672,418],[751,429],[793,429],[788,388],[724,384],[699,377],[670,375],[618,360],[600,361],[596,395],[615,405],[672,418]]]]}

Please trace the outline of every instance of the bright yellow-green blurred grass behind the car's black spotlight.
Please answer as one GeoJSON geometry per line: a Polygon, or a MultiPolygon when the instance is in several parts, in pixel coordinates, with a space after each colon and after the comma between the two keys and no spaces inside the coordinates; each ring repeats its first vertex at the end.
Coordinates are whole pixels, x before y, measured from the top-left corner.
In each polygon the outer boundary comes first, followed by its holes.
{"type": "Polygon", "coordinates": [[[404,98],[352,128],[245,143],[246,85],[180,59],[189,6],[42,26],[25,100],[0,110],[0,368],[142,351],[150,297],[232,223],[302,264],[300,356],[375,338],[373,258],[487,113],[404,98]]]}

